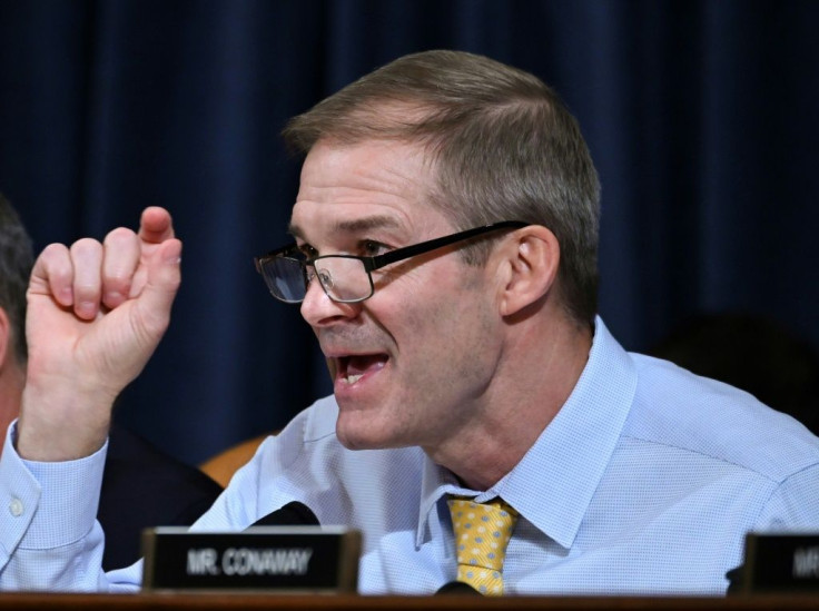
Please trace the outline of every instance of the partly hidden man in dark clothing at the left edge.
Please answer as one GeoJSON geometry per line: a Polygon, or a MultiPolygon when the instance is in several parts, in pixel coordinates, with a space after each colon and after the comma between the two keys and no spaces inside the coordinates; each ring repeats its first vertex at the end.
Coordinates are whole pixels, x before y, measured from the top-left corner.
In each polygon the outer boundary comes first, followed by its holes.
{"type": "MultiPolygon", "coordinates": [[[[26,382],[26,288],[34,257],[31,240],[11,204],[0,195],[0,430],[20,411],[26,382]]],[[[97,516],[106,532],[102,566],[139,558],[141,530],[191,524],[221,493],[200,471],[160,453],[115,426],[97,516]]],[[[1,449],[0,449],[1,451],[1,449]]]]}

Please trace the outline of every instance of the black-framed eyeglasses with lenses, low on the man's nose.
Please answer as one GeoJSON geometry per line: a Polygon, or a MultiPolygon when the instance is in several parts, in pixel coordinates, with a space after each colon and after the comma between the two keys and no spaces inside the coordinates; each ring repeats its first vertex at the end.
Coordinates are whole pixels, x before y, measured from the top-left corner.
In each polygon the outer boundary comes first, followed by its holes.
{"type": "Polygon", "coordinates": [[[368,299],[375,293],[372,273],[376,269],[408,259],[450,244],[466,240],[499,229],[525,227],[521,220],[502,220],[475,227],[448,236],[413,244],[373,257],[355,255],[322,255],[313,259],[297,258],[297,245],[289,244],[267,255],[256,257],[256,270],[265,279],[270,295],[286,304],[304,300],[313,278],[318,278],[322,288],[334,302],[355,304],[368,299]],[[308,268],[313,268],[310,272],[308,268]]]}

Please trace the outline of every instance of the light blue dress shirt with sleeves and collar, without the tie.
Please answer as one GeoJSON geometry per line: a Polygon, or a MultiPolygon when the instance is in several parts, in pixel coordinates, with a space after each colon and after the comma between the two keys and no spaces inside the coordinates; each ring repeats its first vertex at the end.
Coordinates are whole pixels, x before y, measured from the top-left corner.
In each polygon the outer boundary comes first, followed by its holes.
{"type": "MultiPolygon", "coordinates": [[[[747,393],[626,353],[600,319],[565,405],[487,491],[461,487],[417,447],[344,449],[336,414],[323,398],[268,438],[193,529],[243,529],[300,501],[322,524],[363,531],[363,594],[433,593],[454,580],[450,493],[500,495],[520,512],[509,594],[722,594],[747,532],[819,532],[818,437],[747,393]]],[[[138,588],[139,563],[99,569],[105,450],[30,463],[11,435],[0,460],[0,587],[138,588]]]]}

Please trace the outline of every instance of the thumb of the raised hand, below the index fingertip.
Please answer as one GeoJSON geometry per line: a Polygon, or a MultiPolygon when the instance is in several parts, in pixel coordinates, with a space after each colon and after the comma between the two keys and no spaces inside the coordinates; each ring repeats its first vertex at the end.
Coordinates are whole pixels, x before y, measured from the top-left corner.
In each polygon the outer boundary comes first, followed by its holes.
{"type": "Polygon", "coordinates": [[[139,297],[139,308],[146,331],[157,338],[168,326],[170,307],[181,282],[181,242],[168,239],[147,263],[147,282],[139,297]]]}

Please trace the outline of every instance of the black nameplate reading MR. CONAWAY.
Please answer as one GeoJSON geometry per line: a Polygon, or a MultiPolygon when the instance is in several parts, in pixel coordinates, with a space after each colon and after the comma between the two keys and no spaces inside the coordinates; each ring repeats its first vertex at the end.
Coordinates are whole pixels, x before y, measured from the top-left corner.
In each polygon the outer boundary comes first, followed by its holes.
{"type": "Polygon", "coordinates": [[[359,531],[253,526],[241,532],[142,531],[145,590],[355,592],[359,531]]]}

